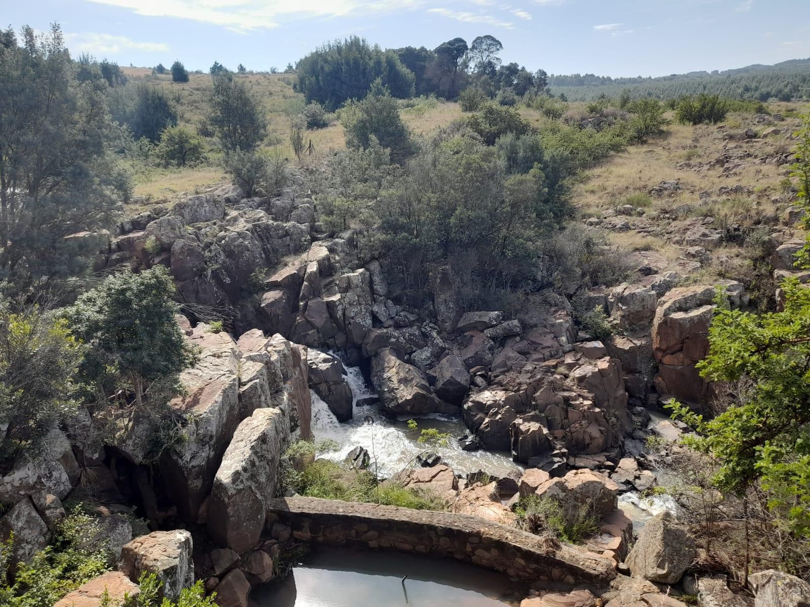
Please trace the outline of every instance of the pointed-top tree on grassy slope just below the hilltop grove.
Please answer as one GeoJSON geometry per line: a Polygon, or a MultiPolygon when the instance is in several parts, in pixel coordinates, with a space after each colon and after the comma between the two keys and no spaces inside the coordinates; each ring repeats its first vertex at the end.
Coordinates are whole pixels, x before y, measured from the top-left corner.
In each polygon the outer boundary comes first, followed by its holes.
{"type": "Polygon", "coordinates": [[[379,80],[364,100],[343,108],[340,120],[349,148],[364,149],[372,141],[377,141],[390,149],[391,159],[396,163],[402,162],[413,151],[411,135],[399,117],[399,106],[379,80]]]}

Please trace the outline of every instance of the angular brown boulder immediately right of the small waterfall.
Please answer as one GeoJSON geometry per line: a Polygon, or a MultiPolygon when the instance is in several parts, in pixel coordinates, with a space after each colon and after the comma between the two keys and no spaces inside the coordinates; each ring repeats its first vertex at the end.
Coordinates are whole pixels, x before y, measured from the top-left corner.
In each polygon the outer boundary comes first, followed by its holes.
{"type": "Polygon", "coordinates": [[[438,399],[422,372],[398,359],[395,350],[386,348],[374,356],[371,380],[380,401],[394,415],[433,413],[438,399]]]}

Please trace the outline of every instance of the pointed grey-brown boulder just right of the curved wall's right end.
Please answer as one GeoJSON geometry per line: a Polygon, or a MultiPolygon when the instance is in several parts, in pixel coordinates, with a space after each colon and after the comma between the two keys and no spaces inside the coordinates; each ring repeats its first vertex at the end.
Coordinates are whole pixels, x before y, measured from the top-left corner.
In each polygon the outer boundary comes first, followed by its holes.
{"type": "Polygon", "coordinates": [[[627,565],[635,577],[650,582],[676,584],[695,558],[695,541],[669,511],[646,522],[627,565]]]}

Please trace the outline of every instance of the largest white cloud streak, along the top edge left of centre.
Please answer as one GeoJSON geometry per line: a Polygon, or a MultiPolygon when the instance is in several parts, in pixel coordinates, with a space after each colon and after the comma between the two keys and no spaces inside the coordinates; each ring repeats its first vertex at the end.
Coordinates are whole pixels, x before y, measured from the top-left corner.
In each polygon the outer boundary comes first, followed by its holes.
{"type": "Polygon", "coordinates": [[[413,8],[423,0],[87,0],[118,6],[148,17],[173,17],[211,23],[235,32],[275,28],[283,17],[342,17],[359,11],[413,8]]]}

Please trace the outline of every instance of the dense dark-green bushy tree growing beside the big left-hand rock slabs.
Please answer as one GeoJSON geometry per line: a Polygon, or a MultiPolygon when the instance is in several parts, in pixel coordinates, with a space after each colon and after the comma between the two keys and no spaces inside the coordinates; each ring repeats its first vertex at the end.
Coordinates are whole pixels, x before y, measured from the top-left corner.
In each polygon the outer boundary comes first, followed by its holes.
{"type": "Polygon", "coordinates": [[[126,381],[136,405],[160,382],[161,394],[177,393],[174,378],[197,354],[183,338],[175,315],[175,287],[163,266],[105,278],[79,297],[65,316],[70,332],[87,346],[79,376],[100,392],[126,381]]]}

